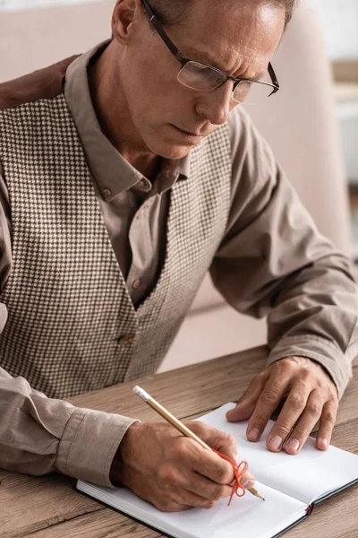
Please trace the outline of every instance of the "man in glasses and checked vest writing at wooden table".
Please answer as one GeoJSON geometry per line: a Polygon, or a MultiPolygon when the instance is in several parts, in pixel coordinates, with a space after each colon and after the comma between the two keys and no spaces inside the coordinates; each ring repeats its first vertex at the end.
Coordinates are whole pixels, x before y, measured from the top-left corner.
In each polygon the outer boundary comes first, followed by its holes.
{"type": "Polygon", "coordinates": [[[256,441],[286,397],[268,449],[290,434],[297,454],[317,421],[328,447],[351,376],[351,265],[239,105],[251,86],[278,91],[293,4],[118,0],[109,43],[0,88],[2,467],[123,482],[163,510],[229,495],[230,464],[170,425],[61,400],[155,371],[208,269],[235,308],[268,313],[268,366],[228,420],[250,417],[256,441]]]}

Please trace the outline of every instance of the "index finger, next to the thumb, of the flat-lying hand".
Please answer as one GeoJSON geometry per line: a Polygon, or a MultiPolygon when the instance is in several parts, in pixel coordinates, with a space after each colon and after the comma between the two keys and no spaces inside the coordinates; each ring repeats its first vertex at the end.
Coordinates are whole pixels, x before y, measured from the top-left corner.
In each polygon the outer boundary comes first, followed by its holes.
{"type": "Polygon", "coordinates": [[[268,420],[286,393],[286,385],[286,377],[277,378],[275,376],[268,378],[268,382],[260,394],[247,427],[247,438],[249,441],[258,441],[260,439],[268,420]]]}

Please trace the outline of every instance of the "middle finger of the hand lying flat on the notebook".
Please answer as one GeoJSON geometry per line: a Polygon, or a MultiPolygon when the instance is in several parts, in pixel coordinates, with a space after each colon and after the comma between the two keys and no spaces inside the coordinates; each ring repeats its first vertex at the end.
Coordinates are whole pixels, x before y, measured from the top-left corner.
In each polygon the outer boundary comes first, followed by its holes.
{"type": "Polygon", "coordinates": [[[291,389],[286,402],[277,417],[277,421],[268,433],[266,446],[272,452],[279,452],[294,428],[294,424],[299,420],[306,407],[309,390],[303,385],[296,384],[291,389]]]}

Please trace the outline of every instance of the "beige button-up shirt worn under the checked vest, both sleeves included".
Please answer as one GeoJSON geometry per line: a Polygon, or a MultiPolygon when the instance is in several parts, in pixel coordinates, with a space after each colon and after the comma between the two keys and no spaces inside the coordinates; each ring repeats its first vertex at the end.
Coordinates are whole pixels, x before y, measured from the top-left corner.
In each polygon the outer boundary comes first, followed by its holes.
{"type": "MultiPolygon", "coordinates": [[[[153,182],[125,161],[101,132],[87,66],[98,48],[68,68],[64,96],[81,137],[108,235],[134,306],[158,279],[166,253],[170,189],[189,159],[160,163],[153,182]]],[[[237,310],[268,315],[268,364],[302,355],[324,366],[339,396],[356,351],[357,288],[351,262],[323,238],[240,108],[228,119],[232,197],[226,236],[210,273],[237,310]]],[[[4,174],[3,174],[4,176],[4,174]]],[[[11,270],[11,207],[0,169],[0,287],[11,270]]],[[[0,304],[0,328],[6,308],[0,304]]],[[[240,336],[238,335],[238,338],[240,336]]],[[[0,368],[0,467],[62,473],[111,485],[116,448],[132,419],[51,400],[0,368]]]]}

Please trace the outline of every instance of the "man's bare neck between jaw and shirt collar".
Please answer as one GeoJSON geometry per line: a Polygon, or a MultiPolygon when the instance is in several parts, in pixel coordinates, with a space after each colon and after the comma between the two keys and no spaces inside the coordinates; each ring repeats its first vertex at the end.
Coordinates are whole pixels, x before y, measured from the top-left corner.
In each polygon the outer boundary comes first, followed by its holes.
{"type": "Polygon", "coordinates": [[[108,45],[106,50],[89,67],[90,97],[103,134],[122,154],[124,159],[149,179],[158,170],[158,156],[144,147],[132,123],[121,84],[117,75],[115,48],[108,45]]]}

